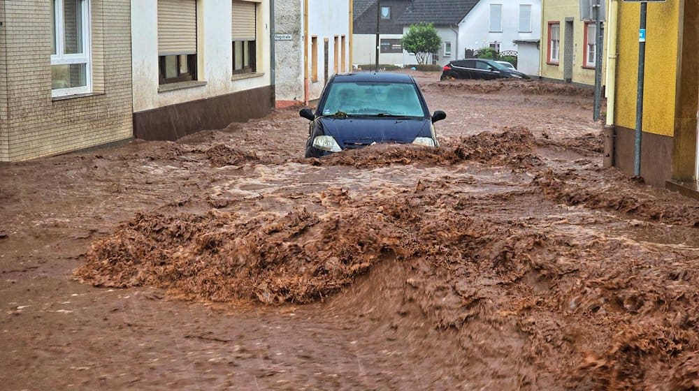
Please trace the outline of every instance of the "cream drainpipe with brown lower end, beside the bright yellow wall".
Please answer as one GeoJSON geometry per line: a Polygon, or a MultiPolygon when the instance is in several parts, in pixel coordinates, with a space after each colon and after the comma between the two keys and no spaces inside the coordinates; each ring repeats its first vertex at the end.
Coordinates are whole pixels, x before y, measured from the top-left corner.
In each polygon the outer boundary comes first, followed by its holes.
{"type": "Polygon", "coordinates": [[[614,165],[614,112],[617,104],[617,26],[619,0],[609,0],[607,15],[607,120],[604,130],[604,166],[614,165]]]}

